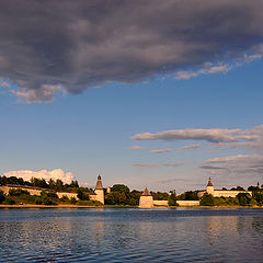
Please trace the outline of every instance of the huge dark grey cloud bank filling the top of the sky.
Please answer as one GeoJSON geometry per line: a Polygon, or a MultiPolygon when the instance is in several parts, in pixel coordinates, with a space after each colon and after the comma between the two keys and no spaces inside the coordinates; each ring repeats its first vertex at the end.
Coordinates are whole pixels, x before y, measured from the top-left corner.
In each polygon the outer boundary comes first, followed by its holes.
{"type": "Polygon", "coordinates": [[[2,0],[0,77],[24,98],[78,93],[256,53],[262,38],[262,0],[2,0]]]}

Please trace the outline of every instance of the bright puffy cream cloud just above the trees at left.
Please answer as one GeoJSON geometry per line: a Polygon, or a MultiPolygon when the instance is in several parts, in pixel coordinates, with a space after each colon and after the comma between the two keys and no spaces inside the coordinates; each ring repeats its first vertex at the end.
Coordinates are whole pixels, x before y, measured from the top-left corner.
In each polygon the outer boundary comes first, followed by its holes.
{"type": "Polygon", "coordinates": [[[3,173],[3,175],[5,175],[8,178],[10,178],[10,176],[22,178],[25,181],[30,181],[32,178],[45,179],[46,181],[48,181],[49,179],[53,179],[53,180],[59,179],[64,183],[68,183],[68,184],[71,183],[71,181],[75,179],[75,176],[71,172],[64,172],[62,169],[54,169],[52,171],[19,170],[19,171],[5,172],[5,173],[3,173]]]}

